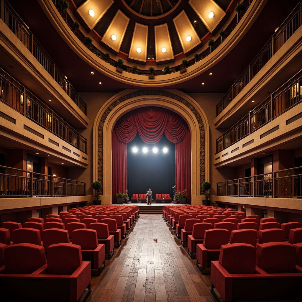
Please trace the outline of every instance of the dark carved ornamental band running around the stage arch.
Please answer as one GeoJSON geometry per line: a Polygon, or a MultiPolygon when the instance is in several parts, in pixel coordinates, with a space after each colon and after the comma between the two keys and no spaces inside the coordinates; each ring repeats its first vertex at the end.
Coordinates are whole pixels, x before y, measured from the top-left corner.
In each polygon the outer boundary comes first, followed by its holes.
{"type": "MultiPolygon", "coordinates": [[[[199,137],[200,137],[200,146],[199,146],[199,169],[200,169],[200,178],[199,178],[199,183],[200,183],[200,192],[199,194],[202,195],[202,190],[201,190],[201,184],[204,182],[205,179],[205,138],[204,138],[204,124],[201,119],[200,114],[198,113],[198,110],[186,99],[182,98],[179,95],[176,95],[172,92],[167,92],[167,91],[162,91],[162,90],[149,90],[149,89],[144,89],[140,91],[135,91],[131,92],[127,95],[123,95],[122,97],[118,98],[115,100],[113,103],[108,106],[108,108],[105,110],[104,114],[101,117],[99,126],[98,126],[98,179],[102,183],[103,182],[103,129],[104,129],[104,123],[106,118],[108,117],[109,113],[120,103],[127,101],[131,98],[136,98],[139,96],[145,96],[145,95],[160,95],[165,98],[171,98],[175,101],[178,101],[185,105],[185,107],[188,108],[189,111],[193,113],[195,116],[198,126],[199,126],[199,137]]],[[[167,107],[169,108],[169,107],[167,107]]],[[[103,192],[101,192],[103,194],[103,192]]]]}

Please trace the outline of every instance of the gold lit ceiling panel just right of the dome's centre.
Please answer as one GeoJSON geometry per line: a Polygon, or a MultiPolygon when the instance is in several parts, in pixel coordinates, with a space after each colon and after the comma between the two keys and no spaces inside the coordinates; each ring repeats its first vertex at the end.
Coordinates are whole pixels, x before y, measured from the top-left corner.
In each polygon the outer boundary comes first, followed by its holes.
{"type": "Polygon", "coordinates": [[[160,62],[174,59],[167,23],[154,26],[154,35],[156,61],[160,62]],[[165,53],[162,52],[162,48],[166,49],[165,53]]]}

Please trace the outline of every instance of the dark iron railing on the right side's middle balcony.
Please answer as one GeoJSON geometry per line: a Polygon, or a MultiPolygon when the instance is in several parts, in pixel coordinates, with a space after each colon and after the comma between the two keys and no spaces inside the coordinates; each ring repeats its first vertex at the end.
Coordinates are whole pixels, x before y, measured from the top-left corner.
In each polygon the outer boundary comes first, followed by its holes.
{"type": "Polygon", "coordinates": [[[233,145],[302,101],[302,70],[216,140],[216,153],[233,145]]]}

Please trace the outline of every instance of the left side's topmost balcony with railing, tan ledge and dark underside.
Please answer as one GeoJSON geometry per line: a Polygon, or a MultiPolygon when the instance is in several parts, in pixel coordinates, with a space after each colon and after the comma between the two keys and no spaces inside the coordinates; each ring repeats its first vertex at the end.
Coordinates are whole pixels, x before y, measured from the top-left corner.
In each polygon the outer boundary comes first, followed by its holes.
{"type": "Polygon", "coordinates": [[[42,100],[51,100],[68,122],[87,127],[84,101],[9,3],[0,4],[0,64],[42,100]]]}

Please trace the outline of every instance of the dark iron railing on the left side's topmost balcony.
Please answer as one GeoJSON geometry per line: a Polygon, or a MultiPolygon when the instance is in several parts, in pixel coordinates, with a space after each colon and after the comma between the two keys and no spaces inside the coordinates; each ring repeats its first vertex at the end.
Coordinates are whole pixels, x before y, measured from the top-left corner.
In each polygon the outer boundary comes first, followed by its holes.
{"type": "MultiPolygon", "coordinates": [[[[53,60],[48,56],[47,52],[39,44],[37,39],[29,31],[27,25],[21,20],[11,5],[5,1],[0,1],[0,6],[4,3],[3,21],[8,28],[18,37],[24,46],[32,53],[43,68],[55,79],[55,81],[64,89],[72,101],[86,115],[86,104],[80,98],[79,94],[72,88],[63,73],[56,67],[53,60]]],[[[1,15],[0,15],[1,17],[1,15]]]]}

